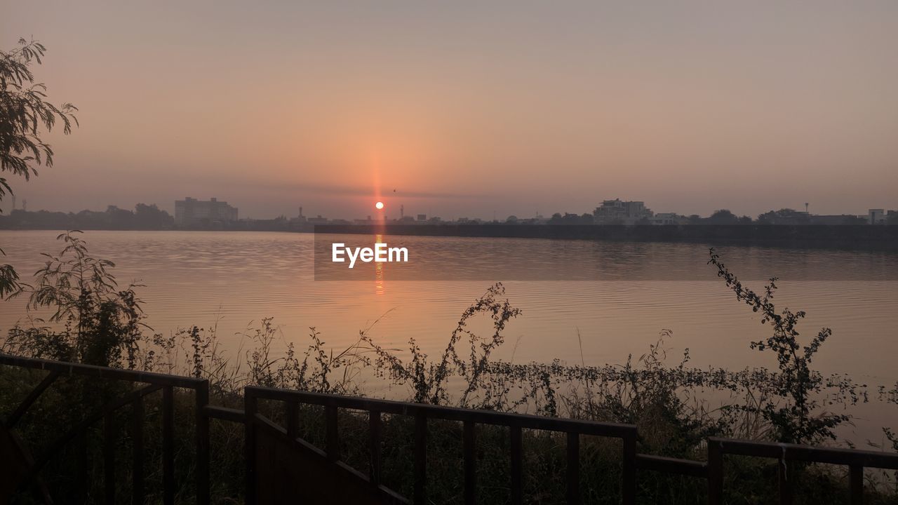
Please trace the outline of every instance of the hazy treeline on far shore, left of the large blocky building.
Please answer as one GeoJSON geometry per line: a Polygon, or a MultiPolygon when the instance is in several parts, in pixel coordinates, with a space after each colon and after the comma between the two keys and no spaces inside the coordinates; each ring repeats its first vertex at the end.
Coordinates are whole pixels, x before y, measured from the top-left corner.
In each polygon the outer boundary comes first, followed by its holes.
{"type": "Polygon", "coordinates": [[[0,216],[2,229],[32,230],[170,230],[174,217],[153,205],[138,203],[134,210],[110,205],[105,211],[29,212],[15,209],[0,216]]]}

